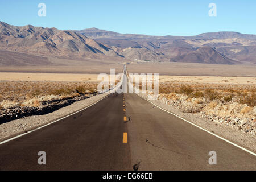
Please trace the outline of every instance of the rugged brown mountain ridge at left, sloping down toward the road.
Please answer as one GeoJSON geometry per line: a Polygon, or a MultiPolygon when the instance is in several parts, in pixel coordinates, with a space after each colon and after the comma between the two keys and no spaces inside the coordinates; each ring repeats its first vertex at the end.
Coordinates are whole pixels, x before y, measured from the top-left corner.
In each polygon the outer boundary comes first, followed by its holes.
{"type": "Polygon", "coordinates": [[[16,27],[4,22],[0,22],[0,49],[69,58],[122,57],[112,48],[73,31],[31,25],[16,27]]]}

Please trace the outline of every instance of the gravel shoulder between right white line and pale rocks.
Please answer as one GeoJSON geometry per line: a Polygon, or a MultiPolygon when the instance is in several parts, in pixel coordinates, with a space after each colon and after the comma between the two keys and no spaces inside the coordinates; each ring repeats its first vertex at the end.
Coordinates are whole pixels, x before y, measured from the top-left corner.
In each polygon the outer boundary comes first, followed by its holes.
{"type": "MultiPolygon", "coordinates": [[[[138,94],[139,96],[147,99],[147,94],[138,94]]],[[[170,111],[179,117],[187,119],[188,121],[195,123],[197,126],[203,127],[203,129],[211,131],[219,135],[220,137],[226,138],[233,143],[239,144],[253,152],[256,151],[256,139],[255,136],[243,133],[241,130],[234,129],[233,127],[214,123],[207,119],[201,118],[198,114],[183,113],[177,110],[175,107],[165,104],[160,100],[150,100],[155,105],[170,111]]]]}

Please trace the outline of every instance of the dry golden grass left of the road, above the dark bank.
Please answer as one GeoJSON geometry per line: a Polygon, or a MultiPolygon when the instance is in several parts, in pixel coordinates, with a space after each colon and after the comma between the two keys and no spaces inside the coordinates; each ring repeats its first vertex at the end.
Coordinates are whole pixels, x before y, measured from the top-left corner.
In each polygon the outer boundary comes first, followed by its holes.
{"type": "Polygon", "coordinates": [[[0,109],[40,106],[41,101],[74,98],[97,91],[97,82],[0,81],[0,109]]]}

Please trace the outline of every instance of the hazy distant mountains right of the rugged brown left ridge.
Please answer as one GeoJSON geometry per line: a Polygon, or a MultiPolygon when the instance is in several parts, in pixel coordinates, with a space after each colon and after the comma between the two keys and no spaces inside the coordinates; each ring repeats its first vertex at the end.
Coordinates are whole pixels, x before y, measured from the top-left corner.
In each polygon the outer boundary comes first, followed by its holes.
{"type": "MultiPolygon", "coordinates": [[[[85,36],[92,37],[98,42],[116,47],[118,52],[130,60],[151,61],[183,61],[192,63],[238,64],[256,63],[256,35],[238,32],[212,32],[196,36],[148,36],[137,34],[118,34],[92,28],[79,31],[85,36]],[[104,34],[103,34],[104,32],[104,34]],[[208,51],[195,52],[204,46],[212,47],[218,60],[198,60],[190,56],[207,57],[208,51]],[[187,56],[185,56],[187,54],[187,56]],[[198,55],[197,55],[198,54],[198,55]],[[181,59],[183,57],[183,59],[181,59]],[[222,61],[221,58],[222,57],[222,61]],[[174,60],[176,59],[176,60],[174,60]],[[234,59],[234,60],[230,60],[234,59]],[[226,60],[226,61],[225,61],[226,60]]],[[[213,56],[214,57],[214,56],[213,56]]]]}

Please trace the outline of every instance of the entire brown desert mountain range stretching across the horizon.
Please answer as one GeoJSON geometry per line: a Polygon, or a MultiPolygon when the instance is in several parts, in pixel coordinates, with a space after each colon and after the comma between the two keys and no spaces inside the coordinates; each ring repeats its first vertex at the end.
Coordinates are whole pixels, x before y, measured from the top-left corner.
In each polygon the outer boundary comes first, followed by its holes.
{"type": "Polygon", "coordinates": [[[31,25],[18,27],[0,22],[0,50],[0,65],[49,64],[48,57],[256,64],[256,35],[213,32],[196,36],[149,36],[97,28],[63,31],[31,25]],[[31,59],[39,61],[31,63],[31,59]]]}

